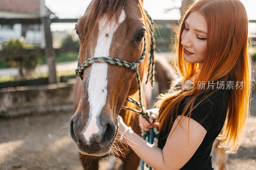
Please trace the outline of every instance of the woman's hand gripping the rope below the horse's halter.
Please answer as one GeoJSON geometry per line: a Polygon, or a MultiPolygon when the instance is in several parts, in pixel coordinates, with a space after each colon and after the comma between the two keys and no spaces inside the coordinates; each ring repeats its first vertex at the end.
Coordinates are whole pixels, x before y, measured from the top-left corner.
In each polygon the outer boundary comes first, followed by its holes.
{"type": "Polygon", "coordinates": [[[159,108],[152,108],[147,110],[150,113],[149,122],[147,119],[143,118],[141,115],[139,116],[139,125],[140,129],[149,131],[149,128],[155,127],[155,124],[153,123],[156,119],[156,115],[159,113],[159,108]]]}

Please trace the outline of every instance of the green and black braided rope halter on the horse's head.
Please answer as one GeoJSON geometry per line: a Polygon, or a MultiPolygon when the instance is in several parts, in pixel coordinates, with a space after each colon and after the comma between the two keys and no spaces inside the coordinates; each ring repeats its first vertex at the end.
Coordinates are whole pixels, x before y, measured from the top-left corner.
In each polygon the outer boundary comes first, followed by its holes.
{"type": "MultiPolygon", "coordinates": [[[[147,14],[148,15],[148,14],[147,14]]],[[[151,20],[150,16],[148,15],[148,18],[151,20]]],[[[151,21],[152,22],[152,21],[151,21]]],[[[152,25],[152,23],[151,23],[152,25]]],[[[150,26],[150,30],[151,30],[151,42],[152,44],[150,45],[150,63],[149,63],[149,67],[148,67],[148,77],[147,77],[147,81],[148,79],[150,79],[151,81],[151,86],[154,87],[154,70],[155,70],[155,63],[154,63],[154,50],[155,50],[155,40],[153,38],[154,35],[154,29],[152,28],[152,26],[150,26]],[[150,78],[149,78],[150,75],[150,78]]],[[[146,112],[145,107],[143,106],[143,102],[142,102],[142,95],[141,95],[141,82],[140,82],[140,76],[139,76],[139,71],[138,71],[138,65],[143,61],[143,59],[145,58],[146,55],[146,38],[144,36],[144,49],[143,49],[143,53],[140,57],[140,59],[135,62],[135,63],[129,63],[123,60],[119,60],[116,58],[111,58],[111,57],[93,57],[90,58],[88,60],[86,60],[83,64],[81,64],[79,66],[79,55],[78,55],[78,64],[77,64],[77,69],[76,69],[76,75],[78,77],[80,77],[81,79],[83,79],[83,73],[84,73],[84,69],[88,66],[90,66],[93,63],[108,63],[108,64],[113,64],[113,65],[118,65],[118,66],[122,66],[122,67],[127,67],[129,69],[131,69],[133,72],[136,73],[136,77],[137,77],[137,82],[138,82],[138,88],[139,88],[139,97],[140,97],[140,102],[136,101],[135,99],[131,98],[131,97],[127,97],[126,99],[129,100],[130,102],[134,103],[135,105],[137,105],[138,107],[140,107],[140,111],[137,109],[132,109],[129,107],[124,106],[124,109],[128,109],[131,111],[134,111],[138,114],[141,114],[142,117],[146,118],[147,120],[149,119],[149,114],[146,112]]]]}

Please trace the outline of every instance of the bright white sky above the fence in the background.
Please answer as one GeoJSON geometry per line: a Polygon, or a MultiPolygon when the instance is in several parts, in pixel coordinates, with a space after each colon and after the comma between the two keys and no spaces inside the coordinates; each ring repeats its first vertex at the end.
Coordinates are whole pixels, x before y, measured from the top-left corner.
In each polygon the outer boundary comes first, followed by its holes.
{"type": "MultiPolygon", "coordinates": [[[[246,9],[248,19],[256,20],[256,0],[240,0],[246,9]]],[[[45,0],[45,5],[59,18],[77,18],[84,14],[91,0],[45,0]]],[[[180,7],[181,0],[144,0],[143,7],[152,19],[180,19],[177,9],[165,13],[165,9],[180,7]]]]}

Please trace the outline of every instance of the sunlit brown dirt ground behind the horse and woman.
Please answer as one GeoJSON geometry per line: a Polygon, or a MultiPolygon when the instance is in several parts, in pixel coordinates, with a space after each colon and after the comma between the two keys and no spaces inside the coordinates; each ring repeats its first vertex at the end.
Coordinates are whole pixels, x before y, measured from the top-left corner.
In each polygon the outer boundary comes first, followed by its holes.
{"type": "MultiPolygon", "coordinates": [[[[69,135],[71,116],[72,113],[0,119],[0,169],[82,169],[78,150],[69,135]]],[[[236,155],[229,155],[228,167],[255,170],[255,161],[256,91],[252,92],[251,116],[243,142],[236,155]]],[[[108,160],[100,161],[101,170],[108,165],[108,160]]],[[[217,169],[215,162],[213,165],[217,169]]]]}

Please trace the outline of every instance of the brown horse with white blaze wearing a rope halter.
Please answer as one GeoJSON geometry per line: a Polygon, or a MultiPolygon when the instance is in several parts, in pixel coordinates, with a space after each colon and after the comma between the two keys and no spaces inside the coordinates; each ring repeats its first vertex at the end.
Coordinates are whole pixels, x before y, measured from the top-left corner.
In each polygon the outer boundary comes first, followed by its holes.
{"type": "MultiPolygon", "coordinates": [[[[139,165],[140,158],[132,149],[124,150],[126,147],[117,141],[117,117],[122,116],[135,133],[141,134],[138,115],[124,110],[123,106],[138,109],[125,99],[127,96],[139,99],[136,78],[139,75],[142,80],[148,69],[152,35],[142,4],[142,0],[93,0],[76,23],[80,40],[78,67],[92,57],[111,57],[135,63],[146,51],[145,58],[137,65],[138,74],[108,63],[93,63],[76,72],[82,80],[77,78],[75,85],[70,135],[80,152],[84,169],[98,169],[97,158],[111,154],[123,155],[120,157],[123,169],[135,170],[139,165]],[[91,162],[88,157],[96,159],[91,162]]],[[[143,86],[141,93],[145,94],[143,86]]],[[[142,101],[147,108],[145,95],[142,101]]]]}

